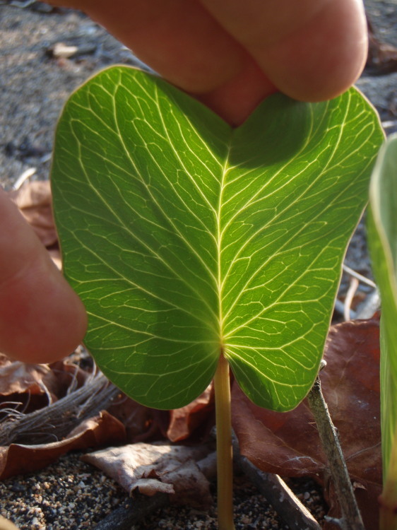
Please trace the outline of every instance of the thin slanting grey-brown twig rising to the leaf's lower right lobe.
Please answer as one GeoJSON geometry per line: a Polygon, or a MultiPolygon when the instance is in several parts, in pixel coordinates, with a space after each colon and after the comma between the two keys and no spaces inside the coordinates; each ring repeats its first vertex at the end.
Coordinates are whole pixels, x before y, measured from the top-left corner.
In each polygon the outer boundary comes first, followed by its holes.
{"type": "Polygon", "coordinates": [[[342,449],[340,449],[338,435],[324,401],[319,377],[316,378],[312,389],[309,391],[307,401],[314,420],[316,420],[321,444],[328,459],[329,469],[342,509],[343,519],[340,520],[340,524],[346,530],[365,530],[360,510],[355,500],[348,468],[342,449]]]}

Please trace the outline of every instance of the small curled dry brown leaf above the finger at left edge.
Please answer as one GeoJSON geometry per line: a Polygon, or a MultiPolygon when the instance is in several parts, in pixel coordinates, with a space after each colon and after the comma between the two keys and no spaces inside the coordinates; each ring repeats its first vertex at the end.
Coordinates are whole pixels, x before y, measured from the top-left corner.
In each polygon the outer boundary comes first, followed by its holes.
{"type": "Polygon", "coordinates": [[[52,216],[52,195],[48,180],[25,182],[17,191],[8,196],[18,206],[20,213],[32,226],[45,247],[58,241],[52,216]]]}

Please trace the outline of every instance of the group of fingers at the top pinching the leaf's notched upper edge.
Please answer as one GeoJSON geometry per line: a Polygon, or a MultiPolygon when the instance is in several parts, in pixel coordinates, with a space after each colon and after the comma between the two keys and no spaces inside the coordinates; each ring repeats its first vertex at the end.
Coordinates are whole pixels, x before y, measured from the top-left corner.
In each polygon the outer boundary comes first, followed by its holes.
{"type": "Polygon", "coordinates": [[[319,101],[367,57],[362,0],[49,0],[80,8],[146,64],[240,124],[274,92],[319,101]]]}

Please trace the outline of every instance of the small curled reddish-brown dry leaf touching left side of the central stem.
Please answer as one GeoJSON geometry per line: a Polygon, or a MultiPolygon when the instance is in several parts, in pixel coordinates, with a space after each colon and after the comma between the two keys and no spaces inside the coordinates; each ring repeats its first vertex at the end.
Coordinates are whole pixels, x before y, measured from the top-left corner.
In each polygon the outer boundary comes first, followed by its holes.
{"type": "Polygon", "coordinates": [[[192,432],[201,425],[214,407],[213,384],[211,383],[203,394],[191,404],[170,411],[170,425],[167,438],[171,442],[180,442],[191,436],[192,432]]]}

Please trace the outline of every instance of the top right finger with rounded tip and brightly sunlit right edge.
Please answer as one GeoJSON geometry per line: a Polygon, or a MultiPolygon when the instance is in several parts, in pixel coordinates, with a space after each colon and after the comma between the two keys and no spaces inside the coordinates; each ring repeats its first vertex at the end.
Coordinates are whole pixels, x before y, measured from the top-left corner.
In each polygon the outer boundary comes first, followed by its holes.
{"type": "Polygon", "coordinates": [[[365,66],[361,0],[201,1],[278,90],[292,98],[334,98],[365,66]]]}

